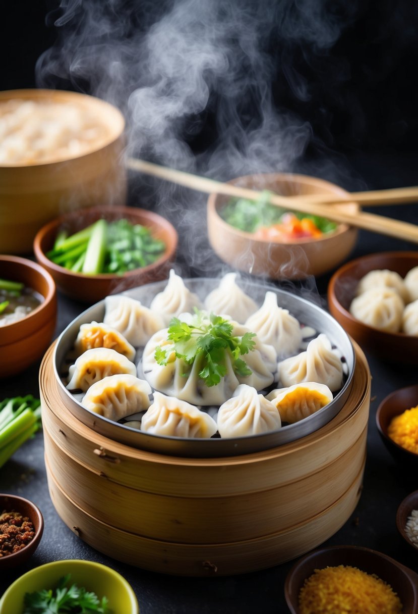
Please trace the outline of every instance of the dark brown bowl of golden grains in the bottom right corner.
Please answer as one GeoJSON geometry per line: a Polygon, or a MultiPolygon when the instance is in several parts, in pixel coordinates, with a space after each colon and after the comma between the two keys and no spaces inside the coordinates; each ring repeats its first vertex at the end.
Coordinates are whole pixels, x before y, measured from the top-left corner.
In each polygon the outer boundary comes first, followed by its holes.
{"type": "Polygon", "coordinates": [[[418,575],[386,554],[360,546],[314,550],[284,585],[292,614],[414,614],[418,575]]]}

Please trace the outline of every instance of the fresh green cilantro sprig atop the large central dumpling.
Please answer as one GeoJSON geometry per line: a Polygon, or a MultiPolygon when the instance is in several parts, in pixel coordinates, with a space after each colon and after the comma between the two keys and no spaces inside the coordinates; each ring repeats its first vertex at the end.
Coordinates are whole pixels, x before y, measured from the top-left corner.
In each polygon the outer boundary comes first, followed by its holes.
{"type": "Polygon", "coordinates": [[[233,329],[233,325],[223,317],[199,309],[195,309],[192,324],[173,317],[167,334],[171,343],[165,344],[164,349],[158,346],[154,358],[159,365],[167,365],[176,358],[189,365],[198,360],[199,377],[211,387],[219,384],[226,375],[225,359],[229,354],[235,373],[246,377],[251,375],[251,369],[240,356],[254,349],[256,333],[234,336],[233,329]]]}

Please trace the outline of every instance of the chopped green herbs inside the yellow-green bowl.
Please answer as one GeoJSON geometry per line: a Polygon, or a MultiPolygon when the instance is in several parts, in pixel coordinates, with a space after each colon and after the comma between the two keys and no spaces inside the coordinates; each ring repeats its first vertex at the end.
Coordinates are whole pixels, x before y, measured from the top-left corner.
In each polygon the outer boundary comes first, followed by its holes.
{"type": "Polygon", "coordinates": [[[95,593],[69,583],[68,573],[58,581],[56,589],[42,589],[25,593],[23,614],[111,614],[107,597],[99,599],[95,593]]]}

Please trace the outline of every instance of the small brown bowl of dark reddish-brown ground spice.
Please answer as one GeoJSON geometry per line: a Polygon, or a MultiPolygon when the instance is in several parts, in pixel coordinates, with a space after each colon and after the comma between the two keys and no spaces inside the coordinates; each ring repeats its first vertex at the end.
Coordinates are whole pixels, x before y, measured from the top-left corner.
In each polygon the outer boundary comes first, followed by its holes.
{"type": "Polygon", "coordinates": [[[0,494],[0,572],[27,561],[43,531],[44,518],[34,503],[17,495],[0,494]]]}

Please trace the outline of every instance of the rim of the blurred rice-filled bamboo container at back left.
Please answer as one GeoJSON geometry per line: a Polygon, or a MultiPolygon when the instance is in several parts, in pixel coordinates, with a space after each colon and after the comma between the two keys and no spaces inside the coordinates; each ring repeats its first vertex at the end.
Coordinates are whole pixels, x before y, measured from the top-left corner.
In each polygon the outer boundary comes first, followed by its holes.
{"type": "Polygon", "coordinates": [[[21,162],[17,162],[14,164],[0,163],[0,169],[34,168],[38,166],[61,164],[63,162],[66,163],[71,160],[80,160],[86,156],[91,155],[92,153],[96,153],[102,149],[105,149],[105,147],[108,147],[111,143],[115,142],[124,133],[126,127],[125,118],[121,113],[120,109],[118,109],[118,107],[108,103],[105,100],[102,100],[101,98],[97,98],[97,96],[83,94],[78,91],[48,90],[47,88],[18,88],[16,90],[0,91],[0,102],[10,100],[12,98],[21,98],[29,100],[58,98],[60,101],[75,101],[78,103],[89,105],[91,107],[97,107],[97,109],[99,107],[102,107],[102,109],[114,115],[115,120],[117,120],[118,127],[115,130],[110,130],[110,134],[106,138],[102,139],[102,141],[100,141],[99,146],[93,146],[92,149],[89,149],[87,152],[82,153],[82,155],[69,155],[67,157],[58,158],[56,160],[33,162],[30,164],[21,162]]]}

